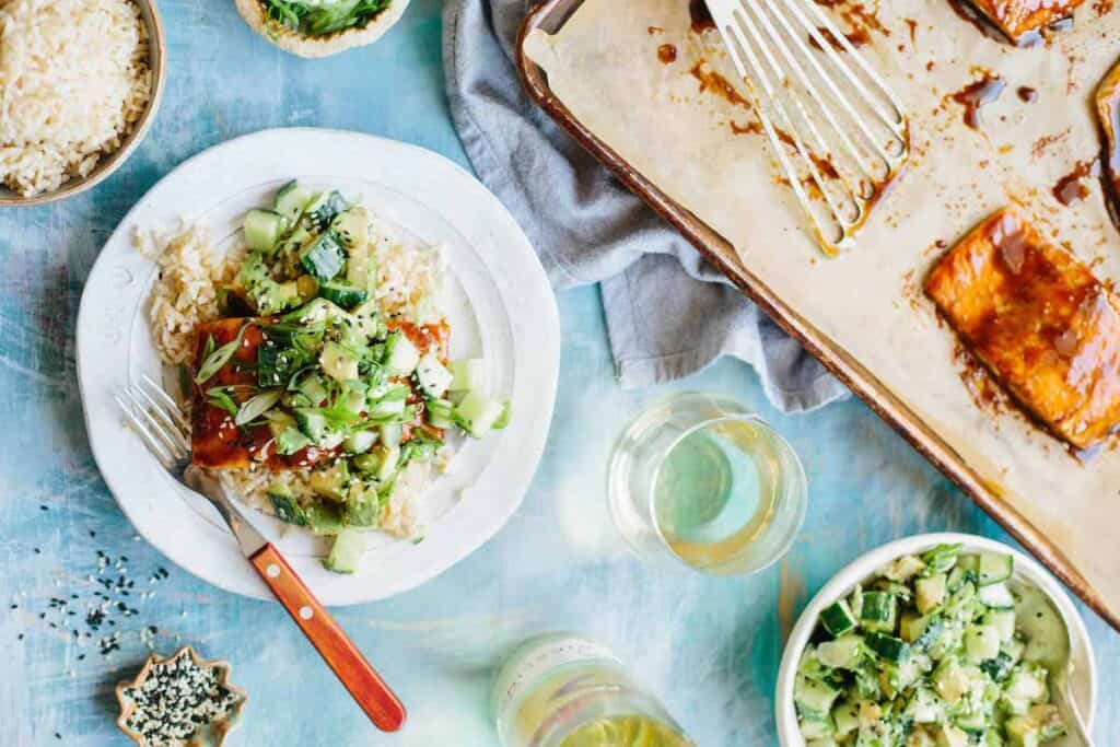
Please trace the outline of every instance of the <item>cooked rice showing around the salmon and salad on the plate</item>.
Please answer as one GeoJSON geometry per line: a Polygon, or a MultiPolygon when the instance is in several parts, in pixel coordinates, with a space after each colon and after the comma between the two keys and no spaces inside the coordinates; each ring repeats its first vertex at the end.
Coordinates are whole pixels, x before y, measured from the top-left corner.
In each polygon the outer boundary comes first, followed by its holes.
{"type": "MultiPolygon", "coordinates": [[[[148,298],[148,318],[156,349],[165,364],[189,363],[195,349],[195,329],[217,319],[221,291],[231,287],[244,258],[244,249],[222,254],[213,245],[209,231],[184,225],[168,234],[134,233],[137,248],[160,269],[148,298]]],[[[370,242],[377,261],[377,307],[385,318],[418,324],[437,321],[436,292],[442,282],[444,255],[438,246],[407,246],[393,226],[371,218],[370,242]]],[[[427,516],[421,499],[431,482],[432,468],[444,469],[450,458],[444,447],[433,464],[410,463],[396,478],[381,516],[382,531],[401,538],[416,538],[427,516]]],[[[310,469],[273,473],[264,466],[223,470],[225,485],[255,508],[274,513],[268,487],[278,480],[301,499],[314,495],[310,469]]]]}

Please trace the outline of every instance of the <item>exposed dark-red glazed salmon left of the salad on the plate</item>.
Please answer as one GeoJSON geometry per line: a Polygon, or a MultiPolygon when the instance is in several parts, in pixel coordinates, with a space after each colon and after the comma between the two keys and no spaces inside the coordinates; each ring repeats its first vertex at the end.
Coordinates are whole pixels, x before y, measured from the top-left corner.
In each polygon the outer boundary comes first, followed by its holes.
{"type": "Polygon", "coordinates": [[[218,319],[198,325],[198,340],[195,348],[194,371],[202,366],[207,339],[213,338],[213,347],[218,348],[237,338],[241,328],[245,327],[241,345],[230,361],[218,368],[217,373],[195,386],[194,414],[190,429],[192,459],[199,467],[209,469],[239,469],[250,464],[263,464],[273,470],[295,469],[328,460],[335,457],[337,449],[317,449],[308,447],[288,456],[277,454],[271,448],[272,431],[267,426],[240,428],[233,415],[209,402],[207,391],[214,387],[227,387],[225,391],[236,401],[245,399],[237,386],[248,387],[256,384],[256,352],[264,340],[260,326],[253,324],[263,319],[218,319]]]}

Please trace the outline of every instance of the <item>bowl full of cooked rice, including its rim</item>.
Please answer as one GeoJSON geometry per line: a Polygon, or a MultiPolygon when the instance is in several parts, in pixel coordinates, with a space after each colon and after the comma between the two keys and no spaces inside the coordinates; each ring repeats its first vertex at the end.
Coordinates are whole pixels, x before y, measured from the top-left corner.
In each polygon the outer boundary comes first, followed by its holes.
{"type": "Polygon", "coordinates": [[[0,206],[115,171],[151,124],[164,68],[151,0],[0,0],[0,206]]]}

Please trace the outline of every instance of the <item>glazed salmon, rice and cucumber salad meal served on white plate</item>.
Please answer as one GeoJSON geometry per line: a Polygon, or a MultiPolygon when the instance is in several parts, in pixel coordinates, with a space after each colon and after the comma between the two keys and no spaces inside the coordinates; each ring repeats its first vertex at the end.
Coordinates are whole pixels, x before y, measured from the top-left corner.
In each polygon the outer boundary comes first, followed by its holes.
{"type": "Polygon", "coordinates": [[[411,249],[361,204],[297,181],[220,252],[205,226],[137,231],[159,265],[148,301],[162,363],[185,382],[193,461],[255,508],[334,536],[418,539],[451,435],[503,428],[480,360],[448,361],[439,246],[411,249]]]}

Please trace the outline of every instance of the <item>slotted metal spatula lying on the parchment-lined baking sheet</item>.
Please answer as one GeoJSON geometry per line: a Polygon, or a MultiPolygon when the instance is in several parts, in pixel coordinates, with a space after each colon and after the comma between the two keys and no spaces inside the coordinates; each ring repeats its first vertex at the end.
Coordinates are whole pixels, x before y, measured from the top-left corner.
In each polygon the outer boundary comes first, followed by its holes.
{"type": "Polygon", "coordinates": [[[707,0],[797,202],[829,254],[909,158],[902,104],[813,0],[707,0]]]}

